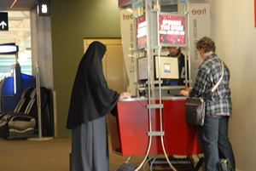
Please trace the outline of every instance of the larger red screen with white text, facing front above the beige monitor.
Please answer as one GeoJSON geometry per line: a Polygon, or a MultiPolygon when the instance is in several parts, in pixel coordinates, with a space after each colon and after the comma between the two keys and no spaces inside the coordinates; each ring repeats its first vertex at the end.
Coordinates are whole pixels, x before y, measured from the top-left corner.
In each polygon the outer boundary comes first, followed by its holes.
{"type": "Polygon", "coordinates": [[[184,14],[160,13],[159,34],[163,46],[186,46],[186,16],[184,14]]]}

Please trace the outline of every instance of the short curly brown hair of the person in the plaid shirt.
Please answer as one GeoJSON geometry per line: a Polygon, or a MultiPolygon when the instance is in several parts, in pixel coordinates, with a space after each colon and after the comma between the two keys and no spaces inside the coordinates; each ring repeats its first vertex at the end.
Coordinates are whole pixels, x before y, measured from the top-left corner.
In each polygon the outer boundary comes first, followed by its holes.
{"type": "Polygon", "coordinates": [[[197,43],[196,48],[198,50],[201,50],[203,48],[205,50],[205,53],[207,52],[215,52],[215,43],[212,41],[210,37],[202,37],[197,43]]]}

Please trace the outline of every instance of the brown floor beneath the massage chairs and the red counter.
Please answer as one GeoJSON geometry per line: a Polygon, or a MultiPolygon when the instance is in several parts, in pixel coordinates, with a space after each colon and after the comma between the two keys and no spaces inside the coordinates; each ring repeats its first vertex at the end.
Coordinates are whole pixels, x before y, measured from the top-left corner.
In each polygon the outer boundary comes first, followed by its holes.
{"type": "MultiPolygon", "coordinates": [[[[111,139],[108,140],[110,171],[115,171],[125,163],[128,157],[113,153],[111,139]]],[[[0,139],[0,151],[1,171],[69,171],[71,139],[46,141],[0,139]]],[[[135,156],[131,158],[131,163],[138,166],[143,159],[144,156],[135,156]]],[[[148,168],[147,163],[145,170],[148,171],[148,168]]],[[[143,170],[143,168],[140,169],[140,171],[143,170]]]]}

